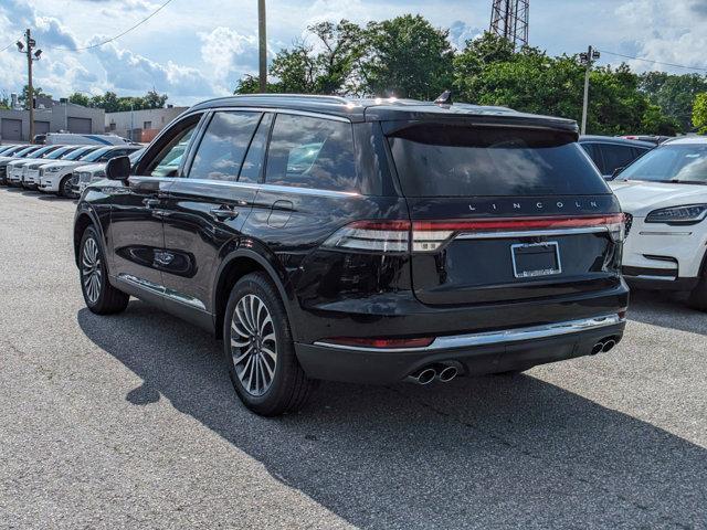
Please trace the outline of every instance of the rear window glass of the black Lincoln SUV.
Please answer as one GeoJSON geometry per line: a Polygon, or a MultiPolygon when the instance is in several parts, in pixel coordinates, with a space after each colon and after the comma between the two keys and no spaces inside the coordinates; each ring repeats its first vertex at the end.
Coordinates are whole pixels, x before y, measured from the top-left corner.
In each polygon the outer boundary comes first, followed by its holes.
{"type": "Polygon", "coordinates": [[[569,134],[419,124],[388,141],[407,197],[610,192],[569,134]]]}

